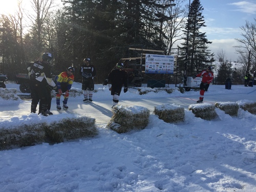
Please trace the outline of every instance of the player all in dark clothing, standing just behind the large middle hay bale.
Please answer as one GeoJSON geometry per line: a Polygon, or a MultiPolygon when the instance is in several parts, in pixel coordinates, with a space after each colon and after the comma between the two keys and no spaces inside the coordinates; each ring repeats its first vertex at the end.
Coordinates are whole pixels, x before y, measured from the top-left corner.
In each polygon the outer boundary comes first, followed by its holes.
{"type": "Polygon", "coordinates": [[[119,96],[122,90],[122,85],[124,85],[123,92],[126,93],[128,88],[127,88],[127,73],[126,71],[123,71],[123,63],[119,62],[117,63],[115,69],[113,69],[108,78],[105,79],[103,86],[106,86],[109,81],[111,81],[112,87],[111,87],[111,95],[113,96],[113,102],[114,105],[112,108],[118,104],[119,102],[119,96]]]}

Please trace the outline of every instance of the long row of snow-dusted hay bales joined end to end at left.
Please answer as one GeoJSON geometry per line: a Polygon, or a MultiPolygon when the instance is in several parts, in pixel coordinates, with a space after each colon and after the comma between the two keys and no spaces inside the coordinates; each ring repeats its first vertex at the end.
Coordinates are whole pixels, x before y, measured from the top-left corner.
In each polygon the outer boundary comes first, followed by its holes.
{"type": "Polygon", "coordinates": [[[31,146],[42,142],[59,143],[97,135],[95,119],[89,117],[66,118],[58,122],[37,122],[0,129],[0,150],[31,146]]]}

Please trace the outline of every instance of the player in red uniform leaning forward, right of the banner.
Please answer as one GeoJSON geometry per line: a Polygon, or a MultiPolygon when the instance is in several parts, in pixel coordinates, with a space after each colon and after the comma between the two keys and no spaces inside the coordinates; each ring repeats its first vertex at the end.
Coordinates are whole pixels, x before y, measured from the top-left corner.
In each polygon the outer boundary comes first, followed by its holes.
{"type": "Polygon", "coordinates": [[[204,92],[208,90],[210,82],[214,79],[214,73],[211,71],[211,67],[207,67],[206,70],[203,70],[201,73],[195,75],[194,78],[201,76],[202,81],[200,83],[200,97],[197,103],[203,102],[204,92]]]}

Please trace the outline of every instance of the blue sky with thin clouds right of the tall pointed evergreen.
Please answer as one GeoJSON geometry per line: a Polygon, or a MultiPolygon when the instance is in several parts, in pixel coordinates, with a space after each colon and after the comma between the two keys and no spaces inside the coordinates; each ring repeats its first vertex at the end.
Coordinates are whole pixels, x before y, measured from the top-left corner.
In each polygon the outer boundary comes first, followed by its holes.
{"type": "Polygon", "coordinates": [[[255,23],[256,1],[201,0],[200,2],[204,8],[203,16],[207,26],[202,32],[206,32],[207,39],[212,41],[209,49],[215,52],[215,55],[221,49],[227,60],[237,60],[238,55],[234,53],[233,46],[238,45],[238,42],[234,38],[242,38],[240,27],[245,26],[246,21],[255,23]]]}

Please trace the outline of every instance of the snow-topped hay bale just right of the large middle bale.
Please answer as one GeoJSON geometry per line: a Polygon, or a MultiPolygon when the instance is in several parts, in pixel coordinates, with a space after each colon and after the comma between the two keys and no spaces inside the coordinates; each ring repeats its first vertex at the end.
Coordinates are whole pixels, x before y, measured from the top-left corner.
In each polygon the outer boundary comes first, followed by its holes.
{"type": "Polygon", "coordinates": [[[155,106],[154,114],[158,115],[158,118],[166,123],[181,122],[184,121],[185,118],[184,108],[174,103],[165,103],[155,106]]]}

